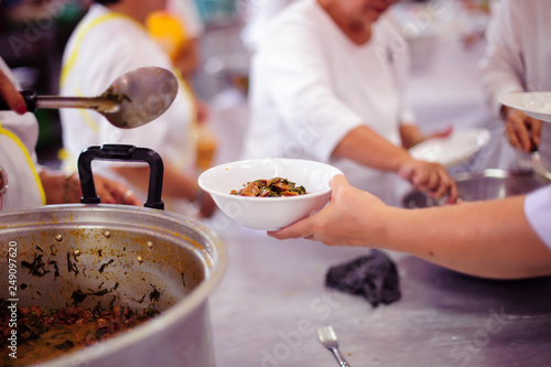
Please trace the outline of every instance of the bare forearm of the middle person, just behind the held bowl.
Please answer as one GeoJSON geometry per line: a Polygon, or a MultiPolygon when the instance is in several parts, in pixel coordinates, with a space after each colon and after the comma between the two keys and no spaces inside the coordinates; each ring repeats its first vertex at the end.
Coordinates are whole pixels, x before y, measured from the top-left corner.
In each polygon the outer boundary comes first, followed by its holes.
{"type": "Polygon", "coordinates": [[[333,156],[347,158],[381,170],[398,171],[408,160],[408,151],[397,147],[366,126],[352,130],[335,148],[333,156]]]}

